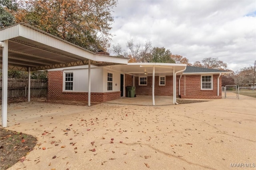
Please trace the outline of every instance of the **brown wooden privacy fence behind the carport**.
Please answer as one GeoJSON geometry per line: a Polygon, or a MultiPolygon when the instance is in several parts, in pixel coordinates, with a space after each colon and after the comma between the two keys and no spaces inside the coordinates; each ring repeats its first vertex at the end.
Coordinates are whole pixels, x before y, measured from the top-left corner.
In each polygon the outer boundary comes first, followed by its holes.
{"type": "MultiPolygon", "coordinates": [[[[2,94],[2,78],[0,78],[0,92],[2,94]]],[[[28,96],[28,79],[8,78],[8,98],[28,96]]],[[[30,96],[47,97],[47,80],[31,79],[30,96]]],[[[0,95],[2,99],[2,95],[0,95]]]]}

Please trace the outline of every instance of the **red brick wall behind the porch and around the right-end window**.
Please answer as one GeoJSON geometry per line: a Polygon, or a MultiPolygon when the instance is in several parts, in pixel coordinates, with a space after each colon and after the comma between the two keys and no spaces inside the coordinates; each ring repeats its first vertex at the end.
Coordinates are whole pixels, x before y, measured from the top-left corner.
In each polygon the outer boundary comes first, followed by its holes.
{"type": "MultiPolygon", "coordinates": [[[[127,75],[128,78],[130,75],[127,75]]],[[[219,88],[219,96],[217,96],[217,79],[219,74],[213,76],[213,90],[201,90],[201,75],[186,75],[186,96],[184,96],[184,75],[180,79],[180,95],[181,98],[194,98],[194,99],[215,99],[222,98],[221,85],[219,88]]],[[[179,78],[176,76],[176,94],[179,95],[179,78]]],[[[166,85],[159,86],[159,76],[155,76],[155,96],[172,96],[172,76],[166,76],[166,85]]],[[[129,81],[132,80],[130,76],[129,81]]],[[[126,86],[132,86],[132,82],[125,80],[126,86]]],[[[221,84],[220,77],[220,84],[221,84]]],[[[136,95],[152,95],[152,76],[148,76],[147,86],[138,85],[138,76],[135,77],[136,95]]]]}

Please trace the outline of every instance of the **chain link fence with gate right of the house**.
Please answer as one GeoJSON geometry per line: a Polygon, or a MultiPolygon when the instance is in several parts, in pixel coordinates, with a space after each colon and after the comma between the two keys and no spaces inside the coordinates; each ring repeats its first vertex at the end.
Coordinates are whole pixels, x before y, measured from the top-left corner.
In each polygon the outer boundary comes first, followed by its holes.
{"type": "Polygon", "coordinates": [[[222,94],[224,98],[256,99],[256,88],[226,85],[222,87],[222,94]]]}

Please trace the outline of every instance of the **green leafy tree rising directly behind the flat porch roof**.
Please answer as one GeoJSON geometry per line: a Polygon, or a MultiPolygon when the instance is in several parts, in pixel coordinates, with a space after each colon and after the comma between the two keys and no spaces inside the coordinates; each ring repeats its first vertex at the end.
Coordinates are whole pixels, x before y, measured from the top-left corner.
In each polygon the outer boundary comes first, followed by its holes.
{"type": "Polygon", "coordinates": [[[150,63],[175,63],[171,55],[170,50],[165,50],[164,47],[154,47],[152,49],[152,60],[150,63]]]}

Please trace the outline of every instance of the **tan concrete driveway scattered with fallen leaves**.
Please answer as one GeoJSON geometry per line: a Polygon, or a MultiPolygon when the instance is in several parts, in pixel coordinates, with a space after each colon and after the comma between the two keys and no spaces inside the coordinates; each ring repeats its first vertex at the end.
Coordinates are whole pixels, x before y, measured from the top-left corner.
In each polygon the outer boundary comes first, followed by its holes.
{"type": "Polygon", "coordinates": [[[231,167],[241,163],[253,169],[256,163],[256,100],[91,107],[23,102],[8,105],[8,121],[6,129],[38,139],[10,170],[241,169],[231,167]]]}

